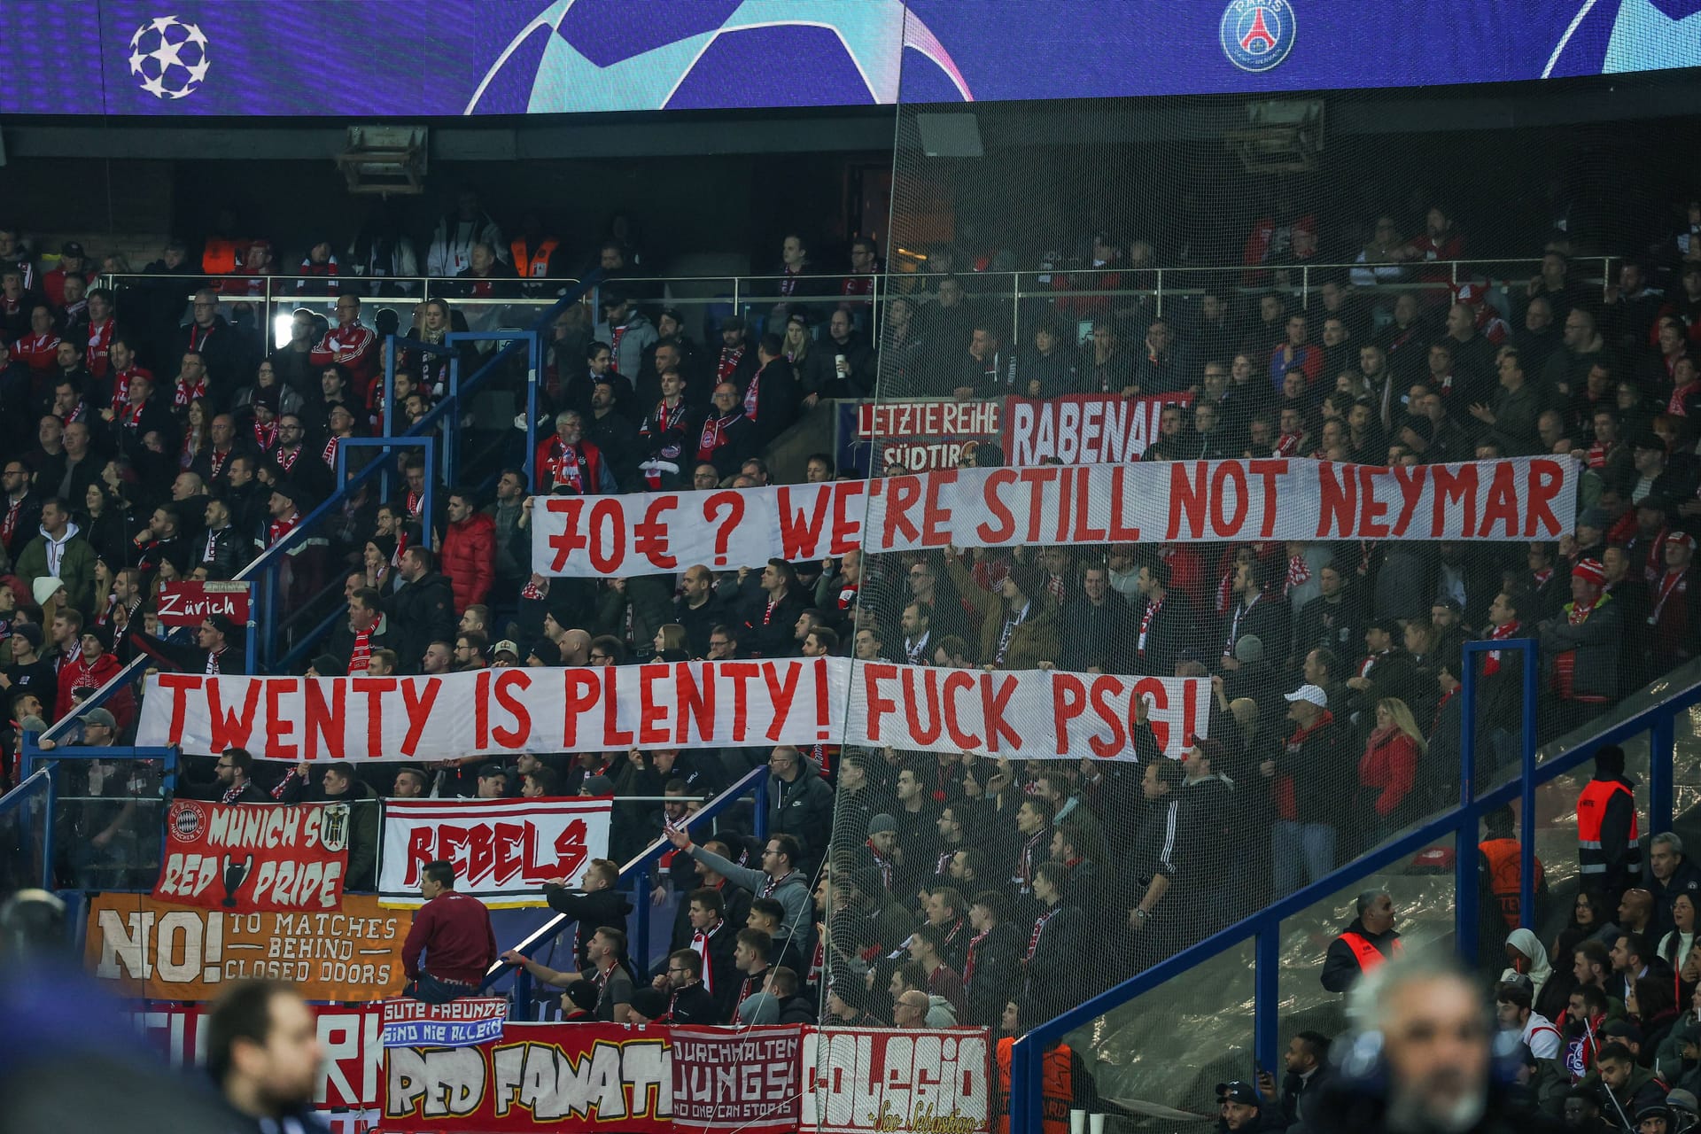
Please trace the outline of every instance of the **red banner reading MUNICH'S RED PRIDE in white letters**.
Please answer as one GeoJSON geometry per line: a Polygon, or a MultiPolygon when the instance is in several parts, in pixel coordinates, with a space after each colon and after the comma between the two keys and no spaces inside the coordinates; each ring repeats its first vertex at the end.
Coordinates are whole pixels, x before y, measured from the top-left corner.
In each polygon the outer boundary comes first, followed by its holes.
{"type": "Polygon", "coordinates": [[[349,872],[349,804],[216,804],[175,799],[153,896],[185,906],[337,910],[349,872]]]}

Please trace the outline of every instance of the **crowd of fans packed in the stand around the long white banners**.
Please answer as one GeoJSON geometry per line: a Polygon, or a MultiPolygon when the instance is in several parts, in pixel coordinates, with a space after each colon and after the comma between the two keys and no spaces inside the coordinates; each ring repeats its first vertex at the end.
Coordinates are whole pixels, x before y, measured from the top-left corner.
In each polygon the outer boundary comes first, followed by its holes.
{"type": "MultiPolygon", "coordinates": [[[[347,270],[315,247],[293,275],[262,240],[211,241],[199,265],[174,241],[150,265],[170,279],[114,289],[88,286],[78,245],[54,262],[0,230],[0,695],[14,736],[65,716],[138,655],[242,672],[242,629],[218,617],[162,627],[160,585],[231,578],[291,537],[337,491],[342,440],[379,432],[390,413],[413,423],[447,393],[442,337],[468,309],[555,294],[560,241],[534,219],[503,245],[476,199],[458,201],[427,258],[463,299],[430,301],[410,298],[400,277],[413,272],[412,247],[403,255],[395,236],[367,240],[347,270]],[[248,303],[277,294],[264,274],[291,275],[304,298],[282,345],[264,304],[257,315],[248,303]],[[403,335],[393,406],[381,381],[391,332],[403,335]]],[[[876,308],[873,241],[830,274],[789,236],[781,303],[701,328],[609,243],[589,301],[555,320],[536,452],[521,452],[514,430],[493,490],[437,485],[430,513],[432,471],[403,457],[395,498],[367,486],[289,547],[291,600],[345,604],[308,649],[316,675],[842,653],[1208,677],[1211,726],[1187,760],[1158,758],[1140,723],[1138,758],[1116,763],[822,745],[310,775],[233,751],[191,762],[182,789],[226,802],[616,796],[611,857],[672,838],[655,898],[675,898],[680,915],[662,966],[623,961],[624,938],[592,938],[631,901],[614,901],[606,867],[592,872],[607,908],[580,918],[578,964],[631,979],[628,1000],[575,1008],[604,1018],[655,1018],[648,993],[668,996],[675,1018],[789,1018],[815,993],[845,1022],[1019,1029],[1323,877],[1456,791],[1465,641],[1541,641],[1545,734],[1694,653],[1701,241],[1630,257],[1602,284],[1582,281],[1556,238],[1502,301],[1446,282],[1436,265],[1466,241],[1432,207],[1417,236],[1378,223],[1356,269],[1308,269],[1300,304],[1293,269],[1318,255],[1315,231],[1303,219],[1271,228],[1243,270],[1172,298],[1162,316],[1138,291],[1150,248],[1106,233],[1044,275],[1055,296],[1021,308],[976,279],[998,257],[956,264],[947,250],[876,308]],[[1131,291],[1075,294],[1118,287],[1131,291]],[[1024,342],[1012,342],[1017,325],[1024,342]],[[531,571],[534,493],[760,486],[765,447],[805,408],[869,396],[876,381],[883,396],[1172,396],[1145,454],[1155,461],[1572,454],[1582,510],[1575,536],[1527,546],[1051,546],[852,551],[677,578],[531,571]],[[697,843],[674,826],[764,758],[765,843],[697,843]],[[686,1008],[694,981],[708,995],[686,1008]],[[742,1013],[754,995],[767,1000],[742,1013]]],[[[995,445],[973,456],[1000,459],[995,445]]],[[[828,454],[808,461],[811,481],[857,474],[828,454]]],[[[1522,656],[1478,665],[1478,760],[1492,772],[1521,748],[1522,656]]],[[[83,716],[78,743],[121,743],[133,723],[122,692],[83,716]]],[[[9,760],[14,748],[9,738],[9,760]]],[[[136,881],[150,865],[134,830],[150,772],[90,762],[77,775],[73,794],[100,802],[61,828],[66,881],[136,881]]],[[[357,828],[356,842],[369,835],[357,828]]],[[[359,889],[373,857],[356,853],[359,889]]],[[[551,899],[585,913],[583,894],[551,899]]],[[[585,981],[566,984],[585,995],[585,981]]]]}

